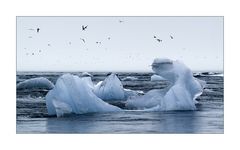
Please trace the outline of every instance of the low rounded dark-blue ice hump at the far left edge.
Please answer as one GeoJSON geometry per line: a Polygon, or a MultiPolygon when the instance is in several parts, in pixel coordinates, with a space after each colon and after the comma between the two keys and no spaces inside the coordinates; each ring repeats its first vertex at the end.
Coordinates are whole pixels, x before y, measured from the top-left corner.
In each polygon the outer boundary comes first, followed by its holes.
{"type": "Polygon", "coordinates": [[[27,80],[17,84],[18,90],[22,90],[22,89],[47,89],[47,90],[50,90],[52,88],[54,88],[53,83],[44,77],[27,79],[27,80]]]}

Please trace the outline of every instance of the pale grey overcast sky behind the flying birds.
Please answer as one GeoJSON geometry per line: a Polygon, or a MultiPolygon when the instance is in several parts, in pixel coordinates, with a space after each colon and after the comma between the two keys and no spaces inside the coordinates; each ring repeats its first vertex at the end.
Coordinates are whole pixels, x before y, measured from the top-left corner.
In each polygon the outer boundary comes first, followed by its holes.
{"type": "Polygon", "coordinates": [[[223,17],[17,17],[17,71],[151,71],[156,57],[222,71],[223,17]]]}

